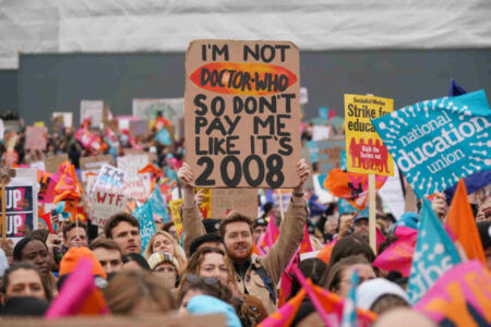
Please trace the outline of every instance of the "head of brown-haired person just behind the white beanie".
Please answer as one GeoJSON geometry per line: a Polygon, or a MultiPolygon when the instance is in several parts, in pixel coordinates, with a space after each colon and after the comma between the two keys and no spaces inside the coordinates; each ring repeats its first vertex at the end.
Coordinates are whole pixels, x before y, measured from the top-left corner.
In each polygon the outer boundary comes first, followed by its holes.
{"type": "Polygon", "coordinates": [[[348,256],[330,267],[325,289],[342,298],[346,298],[354,270],[358,272],[360,284],[363,281],[376,278],[375,271],[363,256],[348,256]]]}

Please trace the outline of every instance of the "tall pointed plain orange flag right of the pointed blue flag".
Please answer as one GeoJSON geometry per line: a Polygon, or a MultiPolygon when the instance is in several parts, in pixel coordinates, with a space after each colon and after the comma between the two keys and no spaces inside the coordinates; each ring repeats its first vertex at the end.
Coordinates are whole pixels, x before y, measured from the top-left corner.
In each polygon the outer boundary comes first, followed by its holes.
{"type": "Polygon", "coordinates": [[[477,230],[472,209],[467,199],[466,184],[463,179],[458,181],[457,190],[452,199],[445,229],[454,242],[458,242],[464,247],[468,259],[478,259],[484,266],[487,265],[484,250],[477,230]]]}

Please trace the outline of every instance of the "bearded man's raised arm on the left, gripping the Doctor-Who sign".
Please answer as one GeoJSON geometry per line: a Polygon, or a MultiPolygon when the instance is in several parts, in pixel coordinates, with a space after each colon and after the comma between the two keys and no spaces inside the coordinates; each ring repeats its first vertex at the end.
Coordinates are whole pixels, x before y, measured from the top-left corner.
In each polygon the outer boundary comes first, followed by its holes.
{"type": "Polygon", "coordinates": [[[193,172],[188,164],[183,164],[178,171],[178,178],[182,185],[182,227],[184,230],[184,251],[189,255],[189,249],[192,241],[206,233],[203,221],[201,219],[197,206],[194,202],[194,191],[191,183],[193,182],[193,172]]]}

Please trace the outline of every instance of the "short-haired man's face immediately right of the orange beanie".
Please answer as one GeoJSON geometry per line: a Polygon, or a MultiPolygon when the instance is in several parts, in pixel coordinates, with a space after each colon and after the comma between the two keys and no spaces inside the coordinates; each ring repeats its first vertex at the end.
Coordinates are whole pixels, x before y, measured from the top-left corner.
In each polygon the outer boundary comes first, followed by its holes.
{"type": "Polygon", "coordinates": [[[94,256],[103,266],[104,272],[106,272],[108,279],[122,269],[121,249],[119,249],[119,245],[115,240],[99,237],[91,243],[88,249],[94,253],[94,256]]]}

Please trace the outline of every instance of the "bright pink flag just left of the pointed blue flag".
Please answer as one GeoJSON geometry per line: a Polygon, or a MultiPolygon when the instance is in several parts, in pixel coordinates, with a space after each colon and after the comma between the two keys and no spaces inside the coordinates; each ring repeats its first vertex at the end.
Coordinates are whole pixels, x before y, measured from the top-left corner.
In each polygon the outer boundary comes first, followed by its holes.
{"type": "Polygon", "coordinates": [[[394,234],[398,240],[385,249],[372,265],[386,271],[397,270],[404,277],[409,277],[418,230],[399,226],[394,234]]]}

